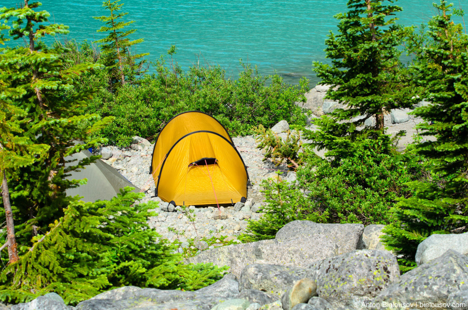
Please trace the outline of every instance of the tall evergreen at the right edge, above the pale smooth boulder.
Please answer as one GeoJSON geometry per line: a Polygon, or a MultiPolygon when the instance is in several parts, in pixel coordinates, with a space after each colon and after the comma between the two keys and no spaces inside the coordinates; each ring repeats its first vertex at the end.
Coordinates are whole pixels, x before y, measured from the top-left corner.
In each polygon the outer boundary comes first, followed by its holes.
{"type": "Polygon", "coordinates": [[[468,231],[468,36],[451,20],[451,4],[434,6],[439,15],[429,21],[430,40],[413,67],[431,102],[413,113],[425,120],[422,135],[436,138],[416,145],[430,171],[409,183],[415,194],[400,199],[394,209],[400,223],[387,227],[385,237],[402,271],[415,266],[417,246],[429,235],[468,231]]]}

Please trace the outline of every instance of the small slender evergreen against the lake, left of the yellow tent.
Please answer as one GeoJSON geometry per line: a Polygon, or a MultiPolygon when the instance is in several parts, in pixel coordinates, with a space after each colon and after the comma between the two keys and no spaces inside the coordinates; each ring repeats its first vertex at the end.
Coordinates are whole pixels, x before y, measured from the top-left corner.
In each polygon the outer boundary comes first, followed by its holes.
{"type": "MultiPolygon", "coordinates": [[[[120,0],[111,2],[106,0],[102,2],[102,6],[110,11],[110,16],[99,16],[94,19],[98,19],[104,22],[107,26],[102,26],[98,29],[98,32],[109,32],[108,36],[104,39],[97,40],[98,43],[102,44],[101,50],[105,56],[106,66],[108,70],[113,72],[114,77],[120,79],[120,84],[125,85],[125,66],[127,66],[131,74],[133,75],[137,68],[141,68],[141,65],[145,60],[141,61],[138,65],[135,63],[136,59],[142,58],[143,56],[149,55],[145,54],[136,54],[132,55],[130,52],[130,47],[137,43],[143,42],[143,39],[137,39],[131,41],[128,39],[128,36],[135,33],[136,29],[131,29],[127,31],[122,31],[123,28],[135,22],[131,21],[118,21],[128,13],[118,13],[120,11],[122,4],[118,4],[120,0]],[[117,69],[118,67],[118,69],[117,69]]],[[[112,86],[115,84],[115,81],[111,81],[112,86]]]]}

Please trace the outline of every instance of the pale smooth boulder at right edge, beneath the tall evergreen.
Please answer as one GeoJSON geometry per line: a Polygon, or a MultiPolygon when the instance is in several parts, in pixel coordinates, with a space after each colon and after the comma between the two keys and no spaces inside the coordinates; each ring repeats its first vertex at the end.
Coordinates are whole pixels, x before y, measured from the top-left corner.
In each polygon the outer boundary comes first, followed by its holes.
{"type": "Polygon", "coordinates": [[[468,232],[459,234],[432,234],[418,245],[416,263],[425,264],[442,256],[448,250],[468,254],[468,232]]]}

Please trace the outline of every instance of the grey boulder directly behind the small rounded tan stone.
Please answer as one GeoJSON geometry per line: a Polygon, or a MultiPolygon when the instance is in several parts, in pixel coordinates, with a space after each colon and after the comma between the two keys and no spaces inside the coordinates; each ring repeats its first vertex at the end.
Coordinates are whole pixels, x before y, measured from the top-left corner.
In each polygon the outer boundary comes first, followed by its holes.
{"type": "Polygon", "coordinates": [[[279,299],[296,281],[306,278],[308,274],[305,268],[253,264],[242,271],[239,289],[265,291],[279,299]]]}

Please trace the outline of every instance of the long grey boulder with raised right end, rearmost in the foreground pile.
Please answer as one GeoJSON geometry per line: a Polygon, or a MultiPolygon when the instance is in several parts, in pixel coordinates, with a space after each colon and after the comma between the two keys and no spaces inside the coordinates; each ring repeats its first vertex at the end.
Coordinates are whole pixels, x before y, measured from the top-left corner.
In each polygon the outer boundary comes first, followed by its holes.
{"type": "Polygon", "coordinates": [[[210,249],[188,262],[229,266],[237,276],[250,264],[306,267],[317,260],[361,249],[363,230],[362,224],[293,221],[280,229],[273,240],[210,249]]]}

